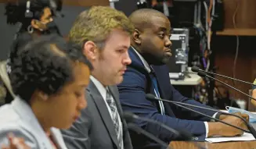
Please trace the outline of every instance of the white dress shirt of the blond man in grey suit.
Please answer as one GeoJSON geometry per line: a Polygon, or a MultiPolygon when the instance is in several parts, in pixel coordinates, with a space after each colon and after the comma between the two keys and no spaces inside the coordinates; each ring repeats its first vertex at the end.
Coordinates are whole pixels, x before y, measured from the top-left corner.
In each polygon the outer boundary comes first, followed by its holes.
{"type": "MultiPolygon", "coordinates": [[[[110,109],[110,105],[108,105],[107,102],[106,102],[106,87],[103,87],[103,84],[100,83],[99,80],[97,80],[95,77],[90,76],[90,79],[96,85],[97,89],[99,90],[99,93],[102,95],[102,97],[105,101],[105,104],[106,104],[106,108],[107,108],[108,112],[110,113],[111,118],[113,119],[112,114],[111,114],[112,111],[110,109]]],[[[111,98],[113,98],[112,94],[110,94],[110,96],[111,96],[111,98]]],[[[119,113],[118,113],[118,118],[117,119],[118,119],[120,129],[121,129],[121,131],[123,131],[123,125],[122,125],[119,113]]]]}

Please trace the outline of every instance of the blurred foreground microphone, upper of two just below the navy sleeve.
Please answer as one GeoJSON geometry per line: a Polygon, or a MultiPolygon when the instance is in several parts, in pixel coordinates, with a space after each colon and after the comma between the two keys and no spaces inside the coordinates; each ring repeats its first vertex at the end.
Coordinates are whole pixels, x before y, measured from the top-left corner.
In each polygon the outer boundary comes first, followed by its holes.
{"type": "Polygon", "coordinates": [[[171,133],[175,133],[175,135],[178,137],[177,140],[191,140],[191,138],[192,138],[192,134],[190,134],[190,133],[187,133],[187,132],[182,131],[182,130],[177,131],[177,130],[172,129],[171,127],[169,127],[167,125],[164,125],[164,123],[157,122],[153,119],[147,119],[147,118],[144,118],[144,117],[140,117],[139,115],[135,115],[132,112],[124,112],[123,117],[124,117],[124,119],[127,120],[127,122],[133,122],[134,119],[139,119],[139,120],[144,120],[144,121],[147,121],[147,122],[152,122],[154,124],[160,125],[161,127],[163,127],[164,129],[167,129],[171,133]]]}

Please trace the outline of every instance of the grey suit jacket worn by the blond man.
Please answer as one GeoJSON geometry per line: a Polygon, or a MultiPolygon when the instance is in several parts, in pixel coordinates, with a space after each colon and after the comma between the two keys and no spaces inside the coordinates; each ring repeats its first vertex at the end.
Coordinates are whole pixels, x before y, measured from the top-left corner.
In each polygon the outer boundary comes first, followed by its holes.
{"type": "MultiPolygon", "coordinates": [[[[110,87],[117,104],[119,115],[122,115],[119,94],[116,86],[110,87]]],[[[106,103],[90,81],[86,92],[88,107],[81,112],[80,118],[74,122],[70,129],[62,130],[63,138],[69,149],[119,149],[117,144],[117,133],[106,107],[106,103]]],[[[128,133],[128,126],[121,117],[123,124],[124,149],[131,149],[132,142],[128,133]]]]}

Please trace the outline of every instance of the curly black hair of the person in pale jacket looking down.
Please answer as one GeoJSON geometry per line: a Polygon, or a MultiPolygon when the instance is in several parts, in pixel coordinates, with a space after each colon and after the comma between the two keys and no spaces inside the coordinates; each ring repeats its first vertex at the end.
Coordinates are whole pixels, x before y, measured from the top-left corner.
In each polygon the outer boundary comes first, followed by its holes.
{"type": "Polygon", "coordinates": [[[83,62],[92,69],[81,50],[74,50],[74,45],[68,44],[63,37],[45,35],[28,42],[12,60],[10,80],[14,94],[27,103],[35,90],[56,94],[63,85],[74,79],[74,61],[83,62]]]}

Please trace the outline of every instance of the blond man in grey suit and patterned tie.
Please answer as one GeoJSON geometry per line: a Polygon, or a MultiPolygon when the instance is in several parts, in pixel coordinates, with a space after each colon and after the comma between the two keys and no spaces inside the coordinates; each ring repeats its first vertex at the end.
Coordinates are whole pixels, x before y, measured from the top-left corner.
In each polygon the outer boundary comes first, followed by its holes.
{"type": "Polygon", "coordinates": [[[92,7],[75,20],[69,40],[80,44],[93,70],[88,108],[70,129],[62,131],[67,148],[132,148],[116,85],[131,63],[128,48],[133,30],[127,16],[110,7],[92,7]]]}

